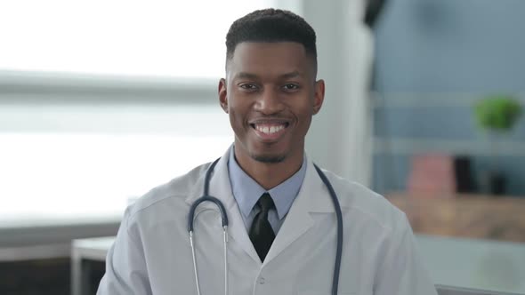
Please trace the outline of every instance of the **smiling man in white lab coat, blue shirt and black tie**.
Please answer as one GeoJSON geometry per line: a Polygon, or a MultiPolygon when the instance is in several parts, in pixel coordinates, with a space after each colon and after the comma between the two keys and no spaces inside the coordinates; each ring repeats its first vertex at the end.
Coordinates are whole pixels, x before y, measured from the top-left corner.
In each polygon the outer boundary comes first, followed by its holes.
{"type": "MultiPolygon", "coordinates": [[[[315,42],[301,17],[273,9],[236,20],[226,36],[218,96],[235,140],[214,166],[209,195],[228,214],[229,294],[331,292],[335,206],[304,153],[325,93],[315,42]]],[[[125,211],[97,294],[198,294],[187,219],[209,167],[154,188],[125,211]]],[[[405,215],[366,187],[324,172],[343,212],[338,294],[436,294],[405,215]]],[[[221,214],[205,202],[194,220],[199,291],[222,294],[221,214]]]]}

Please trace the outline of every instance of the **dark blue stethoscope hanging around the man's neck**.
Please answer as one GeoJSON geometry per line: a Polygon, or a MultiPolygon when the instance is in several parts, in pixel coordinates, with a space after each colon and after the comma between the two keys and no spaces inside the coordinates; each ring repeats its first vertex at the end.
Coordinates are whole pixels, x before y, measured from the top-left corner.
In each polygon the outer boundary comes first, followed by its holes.
{"type": "MultiPolygon", "coordinates": [[[[219,162],[219,159],[215,160],[214,163],[212,163],[206,171],[206,178],[204,181],[204,195],[198,198],[198,200],[195,201],[193,204],[191,204],[190,214],[188,215],[188,232],[190,233],[191,255],[193,257],[193,271],[195,272],[195,283],[197,285],[198,295],[200,295],[200,288],[198,284],[197,260],[195,259],[195,247],[193,243],[193,218],[195,216],[195,210],[197,209],[198,204],[203,203],[205,201],[215,203],[215,205],[217,205],[217,207],[219,208],[219,211],[221,211],[222,231],[224,235],[224,294],[228,294],[228,214],[226,214],[226,210],[224,209],[224,205],[222,204],[222,202],[216,197],[208,194],[212,171],[214,171],[215,164],[219,162]]],[[[316,164],[313,164],[313,166],[318,172],[321,180],[323,180],[325,186],[327,186],[328,188],[328,192],[330,193],[330,197],[332,198],[332,202],[334,203],[335,215],[337,217],[337,250],[335,251],[334,276],[332,278],[332,294],[336,295],[337,286],[339,284],[339,270],[341,268],[341,253],[343,251],[343,216],[341,213],[341,206],[339,205],[339,201],[337,200],[337,195],[335,195],[334,187],[332,187],[332,184],[330,184],[330,181],[328,181],[325,173],[323,173],[323,171],[321,171],[316,164]]]]}

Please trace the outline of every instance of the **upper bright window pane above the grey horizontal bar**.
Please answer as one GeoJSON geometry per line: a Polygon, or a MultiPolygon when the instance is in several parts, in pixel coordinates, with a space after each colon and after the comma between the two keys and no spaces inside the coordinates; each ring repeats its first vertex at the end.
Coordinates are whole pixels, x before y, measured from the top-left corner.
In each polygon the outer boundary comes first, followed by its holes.
{"type": "Polygon", "coordinates": [[[17,0],[0,4],[0,69],[222,76],[238,17],[275,1],[17,0]]]}

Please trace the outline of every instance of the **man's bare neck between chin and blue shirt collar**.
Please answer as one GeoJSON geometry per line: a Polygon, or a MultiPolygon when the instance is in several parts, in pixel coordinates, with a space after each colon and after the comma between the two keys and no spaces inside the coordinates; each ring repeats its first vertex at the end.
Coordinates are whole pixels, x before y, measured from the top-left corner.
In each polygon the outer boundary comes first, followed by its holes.
{"type": "Polygon", "coordinates": [[[292,177],[295,172],[303,165],[304,152],[300,155],[289,155],[279,163],[264,163],[254,160],[249,155],[242,155],[237,150],[234,151],[238,165],[252,179],[264,189],[271,189],[279,186],[286,179],[292,177]]]}

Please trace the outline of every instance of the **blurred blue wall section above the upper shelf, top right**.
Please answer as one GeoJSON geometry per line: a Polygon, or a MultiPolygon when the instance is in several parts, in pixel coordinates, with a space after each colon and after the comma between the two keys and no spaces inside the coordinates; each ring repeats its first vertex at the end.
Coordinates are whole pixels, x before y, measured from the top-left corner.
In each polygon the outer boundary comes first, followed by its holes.
{"type": "Polygon", "coordinates": [[[376,89],[521,92],[525,2],[392,0],[376,32],[376,89]]]}

